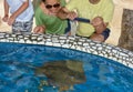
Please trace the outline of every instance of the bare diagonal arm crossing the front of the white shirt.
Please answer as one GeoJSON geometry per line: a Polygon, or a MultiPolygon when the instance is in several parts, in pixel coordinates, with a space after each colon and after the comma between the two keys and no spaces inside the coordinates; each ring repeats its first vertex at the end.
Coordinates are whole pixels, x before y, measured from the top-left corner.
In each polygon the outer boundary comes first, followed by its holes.
{"type": "MultiPolygon", "coordinates": [[[[8,24],[11,25],[11,24],[14,22],[16,18],[17,18],[19,14],[21,14],[28,7],[29,7],[29,0],[24,1],[24,2],[22,3],[22,6],[21,6],[14,13],[12,13],[12,16],[10,17],[10,19],[9,19],[9,21],[8,21],[8,24]]],[[[29,12],[29,13],[30,13],[30,12],[29,12]]]]}

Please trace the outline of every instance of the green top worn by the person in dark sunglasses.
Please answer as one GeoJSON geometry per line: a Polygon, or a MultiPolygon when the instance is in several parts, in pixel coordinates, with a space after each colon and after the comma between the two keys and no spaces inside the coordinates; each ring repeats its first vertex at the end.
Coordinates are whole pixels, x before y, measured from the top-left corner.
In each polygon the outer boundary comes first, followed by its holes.
{"type": "MultiPolygon", "coordinates": [[[[61,6],[65,6],[64,0],[61,0],[61,6]]],[[[34,17],[37,25],[45,25],[45,33],[64,34],[68,27],[66,20],[45,14],[39,6],[35,8],[34,17]]]]}

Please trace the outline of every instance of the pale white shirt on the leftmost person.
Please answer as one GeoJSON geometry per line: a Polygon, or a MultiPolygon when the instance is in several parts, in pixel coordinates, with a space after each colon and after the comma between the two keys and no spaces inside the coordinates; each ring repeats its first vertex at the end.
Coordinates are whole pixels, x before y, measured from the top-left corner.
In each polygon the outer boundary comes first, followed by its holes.
{"type": "MultiPolygon", "coordinates": [[[[16,12],[25,1],[27,0],[7,0],[10,7],[10,13],[16,12]]],[[[31,0],[29,0],[29,7],[27,8],[27,10],[24,10],[21,14],[17,17],[16,21],[20,21],[20,22],[30,21],[33,18],[33,13],[34,13],[33,6],[31,0]]]]}

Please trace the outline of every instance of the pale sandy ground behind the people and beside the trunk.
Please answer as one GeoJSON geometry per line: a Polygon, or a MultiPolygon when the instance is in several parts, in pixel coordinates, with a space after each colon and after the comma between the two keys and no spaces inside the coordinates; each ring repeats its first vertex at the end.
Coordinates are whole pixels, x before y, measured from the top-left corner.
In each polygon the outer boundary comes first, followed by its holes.
{"type": "MultiPolygon", "coordinates": [[[[111,23],[111,35],[105,41],[106,43],[110,43],[113,45],[117,44],[120,34],[121,34],[121,20],[122,20],[123,8],[133,9],[130,2],[133,2],[133,0],[125,0],[125,1],[124,0],[114,0],[115,10],[114,10],[113,20],[111,23]]],[[[11,32],[11,27],[9,27],[7,23],[1,21],[3,13],[4,13],[3,12],[3,0],[0,0],[0,22],[1,22],[0,32],[11,32]]],[[[33,23],[33,28],[34,28],[34,25],[35,24],[33,23]]]]}

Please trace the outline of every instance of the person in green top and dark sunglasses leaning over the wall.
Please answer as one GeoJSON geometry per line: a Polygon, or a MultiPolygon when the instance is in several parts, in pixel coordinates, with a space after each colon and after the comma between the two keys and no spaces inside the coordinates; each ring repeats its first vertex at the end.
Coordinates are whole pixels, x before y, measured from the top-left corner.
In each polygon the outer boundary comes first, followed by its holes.
{"type": "Polygon", "coordinates": [[[35,33],[64,34],[70,29],[68,20],[57,17],[59,10],[65,6],[65,0],[42,0],[37,6],[35,12],[35,33]]]}

